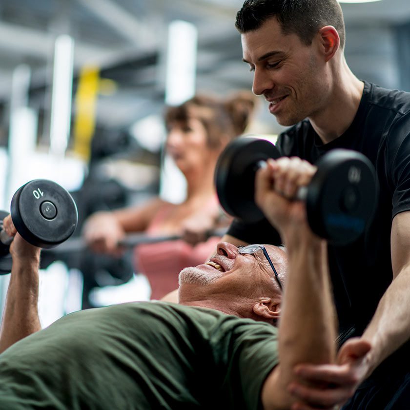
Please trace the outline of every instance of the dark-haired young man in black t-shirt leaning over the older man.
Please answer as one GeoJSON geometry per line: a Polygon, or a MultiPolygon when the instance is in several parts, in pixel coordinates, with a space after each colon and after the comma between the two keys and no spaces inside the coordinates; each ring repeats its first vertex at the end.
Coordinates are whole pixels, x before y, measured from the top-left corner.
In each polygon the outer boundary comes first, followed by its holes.
{"type": "MultiPolygon", "coordinates": [[[[410,94],[353,75],[336,0],[246,0],[236,27],[243,60],[254,73],[253,92],[265,97],[280,124],[292,126],[279,136],[281,153],[315,163],[330,149],[353,149],[375,165],[380,185],[366,234],[349,246],[328,245],[340,332],[362,335],[372,349],[358,362],[350,352],[354,339],[349,340],[339,351],[344,366],[299,369],[307,380],[322,379],[332,389],[299,385],[295,394],[307,401],[327,395],[341,404],[372,374],[349,408],[408,408],[410,399],[403,397],[409,394],[410,94]],[[401,394],[393,397],[396,391],[401,394]]],[[[287,186],[283,190],[286,195],[287,186]]],[[[280,243],[266,220],[234,221],[223,240],[244,245],[255,238],[280,243]]]]}

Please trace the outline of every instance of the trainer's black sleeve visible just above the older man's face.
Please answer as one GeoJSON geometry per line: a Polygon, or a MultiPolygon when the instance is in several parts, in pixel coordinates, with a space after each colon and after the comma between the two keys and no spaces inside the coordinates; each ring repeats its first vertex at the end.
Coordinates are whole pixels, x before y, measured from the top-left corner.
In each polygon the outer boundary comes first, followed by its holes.
{"type": "Polygon", "coordinates": [[[266,218],[251,224],[234,219],[227,234],[248,244],[270,244],[276,246],[282,244],[278,231],[270,225],[266,218]]]}

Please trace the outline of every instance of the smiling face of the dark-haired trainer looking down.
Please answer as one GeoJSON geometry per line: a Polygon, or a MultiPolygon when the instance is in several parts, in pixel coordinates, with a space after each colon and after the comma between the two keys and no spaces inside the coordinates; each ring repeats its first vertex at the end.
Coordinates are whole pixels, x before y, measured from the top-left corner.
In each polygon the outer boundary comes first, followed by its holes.
{"type": "Polygon", "coordinates": [[[285,35],[276,18],[241,35],[243,61],[253,72],[252,90],[269,102],[278,123],[293,125],[314,116],[323,105],[328,87],[317,41],[302,43],[285,35]]]}

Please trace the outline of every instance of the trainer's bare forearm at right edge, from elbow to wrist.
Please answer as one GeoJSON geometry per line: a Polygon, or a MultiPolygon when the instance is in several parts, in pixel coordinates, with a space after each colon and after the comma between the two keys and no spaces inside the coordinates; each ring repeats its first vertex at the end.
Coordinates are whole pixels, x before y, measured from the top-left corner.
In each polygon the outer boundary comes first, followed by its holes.
{"type": "Polygon", "coordinates": [[[410,266],[405,267],[386,290],[363,338],[372,349],[367,376],[410,338],[410,266]]]}

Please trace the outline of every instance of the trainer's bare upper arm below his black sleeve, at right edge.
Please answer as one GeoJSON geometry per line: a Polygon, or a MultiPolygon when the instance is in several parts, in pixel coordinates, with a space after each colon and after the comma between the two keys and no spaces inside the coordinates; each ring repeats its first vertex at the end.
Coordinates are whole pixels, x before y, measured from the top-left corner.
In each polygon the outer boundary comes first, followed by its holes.
{"type": "Polygon", "coordinates": [[[410,265],[410,211],[401,212],[393,218],[390,235],[391,266],[393,278],[410,265]]]}

